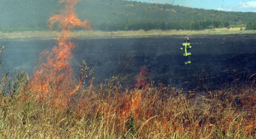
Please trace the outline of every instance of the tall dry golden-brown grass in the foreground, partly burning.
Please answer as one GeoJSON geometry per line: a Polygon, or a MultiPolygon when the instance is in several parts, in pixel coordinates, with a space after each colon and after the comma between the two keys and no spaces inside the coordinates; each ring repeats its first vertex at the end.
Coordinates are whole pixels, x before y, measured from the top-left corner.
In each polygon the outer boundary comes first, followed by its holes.
{"type": "Polygon", "coordinates": [[[19,83],[15,94],[1,95],[0,138],[256,137],[254,82],[194,93],[151,82],[123,92],[113,77],[97,88],[80,88],[65,105],[56,105],[54,89],[36,99],[25,80],[19,83]]]}

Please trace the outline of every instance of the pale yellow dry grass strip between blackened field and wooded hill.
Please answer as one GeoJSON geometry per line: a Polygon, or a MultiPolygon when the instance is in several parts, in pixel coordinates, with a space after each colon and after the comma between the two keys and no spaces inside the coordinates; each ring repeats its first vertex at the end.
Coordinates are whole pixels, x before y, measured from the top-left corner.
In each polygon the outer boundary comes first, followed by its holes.
{"type": "MultiPolygon", "coordinates": [[[[77,39],[107,39],[107,38],[142,38],[173,35],[214,35],[214,34],[238,34],[255,33],[253,30],[244,30],[245,28],[218,28],[205,30],[138,30],[138,31],[74,31],[72,37],[77,39]]],[[[0,40],[51,40],[57,37],[56,31],[24,31],[24,32],[0,32],[0,40]]]]}

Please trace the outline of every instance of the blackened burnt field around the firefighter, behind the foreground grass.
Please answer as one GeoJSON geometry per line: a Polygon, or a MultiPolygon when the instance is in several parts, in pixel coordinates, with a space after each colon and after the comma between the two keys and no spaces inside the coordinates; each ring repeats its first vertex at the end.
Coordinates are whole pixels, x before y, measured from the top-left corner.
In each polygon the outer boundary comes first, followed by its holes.
{"type": "MultiPolygon", "coordinates": [[[[245,81],[256,72],[255,38],[254,34],[191,36],[191,65],[184,65],[179,49],[183,36],[73,40],[77,47],[71,64],[75,77],[82,60],[91,68],[97,65],[97,83],[115,75],[124,86],[135,85],[134,77],[142,67],[148,81],[187,89],[217,89],[234,79],[245,81]]],[[[6,47],[2,73],[24,69],[31,75],[38,54],[50,50],[55,41],[1,41],[1,45],[6,47]]]]}

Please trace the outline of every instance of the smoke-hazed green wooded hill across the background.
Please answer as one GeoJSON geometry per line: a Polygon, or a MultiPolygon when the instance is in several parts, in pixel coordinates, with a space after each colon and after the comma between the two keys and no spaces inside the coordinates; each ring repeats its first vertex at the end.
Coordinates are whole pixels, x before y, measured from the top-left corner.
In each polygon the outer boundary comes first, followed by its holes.
{"type": "MultiPolygon", "coordinates": [[[[0,0],[0,30],[47,30],[59,0],[0,0]]],[[[205,29],[254,22],[256,13],[226,12],[123,0],[80,0],[76,13],[94,30],[205,29]]]]}

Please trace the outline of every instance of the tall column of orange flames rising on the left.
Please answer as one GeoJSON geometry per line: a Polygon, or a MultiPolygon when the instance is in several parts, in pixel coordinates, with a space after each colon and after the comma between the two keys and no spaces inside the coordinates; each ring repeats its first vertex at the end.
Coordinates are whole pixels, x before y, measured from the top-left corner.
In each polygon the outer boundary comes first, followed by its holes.
{"type": "Polygon", "coordinates": [[[52,48],[52,51],[40,53],[39,64],[35,67],[36,71],[32,76],[31,86],[37,90],[39,98],[48,95],[49,91],[55,92],[55,95],[68,91],[68,96],[70,96],[76,90],[70,89],[68,84],[63,83],[72,78],[72,67],[69,61],[73,58],[71,50],[75,48],[75,45],[70,38],[71,29],[73,27],[92,29],[88,20],[82,22],[74,13],[74,6],[77,2],[78,0],[60,0],[60,3],[65,3],[65,9],[61,10],[61,14],[49,18],[48,27],[52,29],[53,25],[58,22],[61,31],[57,34],[56,46],[52,48]]]}

